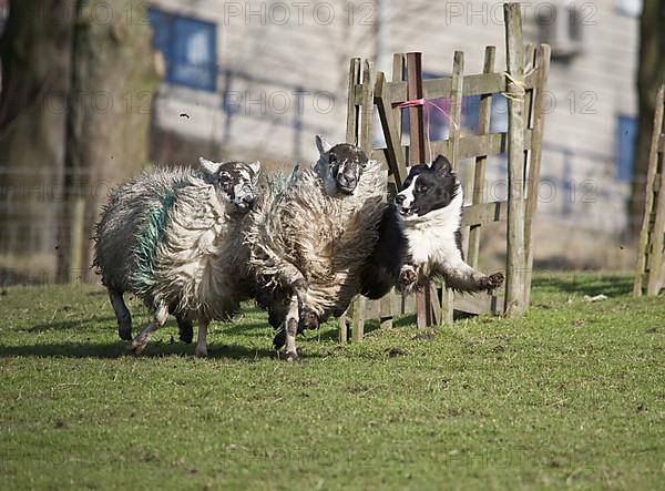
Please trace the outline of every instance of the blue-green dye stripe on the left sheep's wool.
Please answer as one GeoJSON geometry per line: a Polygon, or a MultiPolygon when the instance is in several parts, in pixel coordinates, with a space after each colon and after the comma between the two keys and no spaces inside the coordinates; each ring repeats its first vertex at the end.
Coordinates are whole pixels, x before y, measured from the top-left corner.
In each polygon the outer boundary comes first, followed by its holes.
{"type": "Polygon", "coordinates": [[[175,204],[175,190],[170,190],[160,197],[160,206],[153,206],[146,212],[145,226],[139,233],[136,246],[132,250],[134,267],[130,279],[137,294],[145,294],[155,284],[157,244],[164,237],[168,212],[175,204]]]}

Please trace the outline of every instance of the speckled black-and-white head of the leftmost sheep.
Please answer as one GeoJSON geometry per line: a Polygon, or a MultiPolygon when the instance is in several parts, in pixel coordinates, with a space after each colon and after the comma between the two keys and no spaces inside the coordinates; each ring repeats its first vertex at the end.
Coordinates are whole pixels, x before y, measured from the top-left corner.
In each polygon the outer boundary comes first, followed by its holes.
{"type": "Polygon", "coordinates": [[[252,209],[256,200],[255,187],[260,170],[259,162],[211,162],[201,158],[201,167],[212,178],[221,197],[233,204],[239,213],[252,209]]]}

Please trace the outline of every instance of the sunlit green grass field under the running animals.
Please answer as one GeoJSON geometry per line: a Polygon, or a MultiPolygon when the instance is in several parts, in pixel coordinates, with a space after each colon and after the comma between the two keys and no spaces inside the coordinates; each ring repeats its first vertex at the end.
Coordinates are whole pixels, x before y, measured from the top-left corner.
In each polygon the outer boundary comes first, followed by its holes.
{"type": "Polygon", "coordinates": [[[541,275],[518,320],[328,324],[287,364],[249,307],[206,360],[173,321],[134,357],[101,288],[9,288],[0,488],[663,489],[665,309],[630,289],[541,275]]]}

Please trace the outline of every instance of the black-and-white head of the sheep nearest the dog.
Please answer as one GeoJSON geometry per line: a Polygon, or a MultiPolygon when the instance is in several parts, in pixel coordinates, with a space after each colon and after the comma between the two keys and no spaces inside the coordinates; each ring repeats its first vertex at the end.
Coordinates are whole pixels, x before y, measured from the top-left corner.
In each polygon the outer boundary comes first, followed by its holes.
{"type": "Polygon", "coordinates": [[[349,143],[330,146],[321,136],[316,137],[319,161],[315,172],[330,194],[352,194],[369,160],[362,149],[349,143]]]}

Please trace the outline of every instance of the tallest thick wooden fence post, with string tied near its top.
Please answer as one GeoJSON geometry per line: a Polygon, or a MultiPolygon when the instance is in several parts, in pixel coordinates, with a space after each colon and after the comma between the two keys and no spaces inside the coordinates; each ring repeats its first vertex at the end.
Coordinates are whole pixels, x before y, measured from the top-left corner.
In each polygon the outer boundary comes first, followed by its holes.
{"type": "Polygon", "coordinates": [[[524,45],[520,3],[504,3],[508,111],[505,315],[524,310],[524,45]]]}

